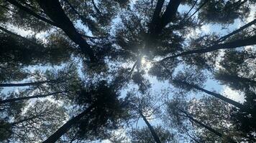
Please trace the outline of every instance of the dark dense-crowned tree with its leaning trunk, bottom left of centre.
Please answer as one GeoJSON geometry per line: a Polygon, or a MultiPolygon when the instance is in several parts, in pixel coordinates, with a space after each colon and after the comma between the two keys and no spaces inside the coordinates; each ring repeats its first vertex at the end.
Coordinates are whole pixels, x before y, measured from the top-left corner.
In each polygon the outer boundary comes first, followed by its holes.
{"type": "Polygon", "coordinates": [[[78,95],[78,104],[84,104],[87,108],[76,117],[68,120],[55,133],[44,142],[56,142],[68,130],[78,125],[78,136],[83,138],[90,133],[104,137],[104,128],[114,129],[118,124],[118,119],[122,119],[122,102],[116,99],[118,95],[107,87],[102,81],[98,87],[89,87],[81,91],[78,95]]]}

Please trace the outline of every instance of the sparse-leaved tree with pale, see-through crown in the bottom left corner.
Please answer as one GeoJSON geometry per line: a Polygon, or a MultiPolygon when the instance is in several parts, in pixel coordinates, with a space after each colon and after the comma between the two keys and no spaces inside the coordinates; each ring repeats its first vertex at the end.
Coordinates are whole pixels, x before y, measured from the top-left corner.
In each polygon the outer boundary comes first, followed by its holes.
{"type": "Polygon", "coordinates": [[[37,101],[35,104],[28,107],[27,111],[23,114],[16,114],[17,117],[14,118],[13,122],[4,123],[6,124],[5,126],[9,127],[1,126],[1,131],[4,131],[5,134],[9,134],[9,141],[42,141],[45,135],[55,131],[55,129],[62,124],[58,121],[65,120],[65,116],[63,116],[64,112],[65,109],[56,106],[55,103],[47,100],[44,102],[37,101]],[[55,122],[53,123],[52,121],[55,122]]]}

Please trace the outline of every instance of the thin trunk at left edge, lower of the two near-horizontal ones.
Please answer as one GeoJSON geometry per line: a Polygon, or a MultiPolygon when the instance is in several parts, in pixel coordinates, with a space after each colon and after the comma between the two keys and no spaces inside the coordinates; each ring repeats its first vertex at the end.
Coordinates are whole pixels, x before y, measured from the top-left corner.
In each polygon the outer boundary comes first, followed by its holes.
{"type": "Polygon", "coordinates": [[[12,98],[12,99],[5,99],[5,100],[0,100],[0,104],[8,103],[8,102],[17,102],[17,101],[22,101],[22,100],[27,100],[27,99],[35,99],[35,98],[42,98],[42,97],[48,97],[55,95],[57,96],[58,94],[66,93],[65,92],[53,92],[50,94],[43,94],[43,95],[35,95],[35,96],[30,96],[30,97],[18,97],[18,98],[12,98]]]}

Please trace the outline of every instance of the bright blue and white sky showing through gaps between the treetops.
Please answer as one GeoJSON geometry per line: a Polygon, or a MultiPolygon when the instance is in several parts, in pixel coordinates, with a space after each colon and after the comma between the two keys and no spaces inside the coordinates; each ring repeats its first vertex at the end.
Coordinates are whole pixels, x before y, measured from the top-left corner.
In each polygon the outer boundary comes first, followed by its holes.
{"type": "MultiPolygon", "coordinates": [[[[134,2],[135,1],[136,0],[134,0],[134,2]]],[[[188,11],[188,9],[190,9],[189,6],[180,6],[178,11],[183,12],[183,11],[188,11]]],[[[253,14],[255,14],[255,9],[256,8],[254,7],[252,9],[253,10],[251,11],[250,16],[247,19],[247,21],[236,20],[234,22],[234,24],[229,25],[229,26],[224,26],[224,28],[226,28],[226,29],[222,29],[223,26],[217,25],[217,24],[204,24],[204,26],[202,26],[201,29],[196,29],[196,31],[191,32],[191,34],[189,36],[195,36],[196,34],[210,34],[210,33],[213,33],[213,32],[220,33],[221,35],[228,34],[230,31],[234,31],[234,29],[237,29],[240,26],[243,26],[247,22],[250,22],[250,21],[252,21],[254,19],[253,14]]],[[[191,14],[193,13],[193,11],[195,11],[195,9],[193,9],[191,11],[191,14]]],[[[195,16],[197,16],[197,15],[195,15],[195,16]]],[[[116,20],[116,22],[118,22],[118,20],[116,20]]],[[[81,27],[81,24],[79,24],[79,21],[76,24],[76,26],[78,26],[81,29],[84,29],[85,31],[88,31],[86,28],[81,27]]],[[[20,34],[22,36],[28,36],[28,35],[34,34],[32,31],[24,31],[23,29],[18,29],[17,27],[14,27],[14,26],[8,26],[8,28],[11,31],[14,31],[15,33],[20,34]]],[[[47,36],[47,33],[39,33],[39,34],[35,34],[35,35],[39,39],[44,39],[44,37],[47,36]]],[[[251,47],[251,48],[255,48],[255,46],[251,47]]],[[[147,61],[145,59],[142,59],[142,60],[143,60],[142,64],[145,65],[145,70],[148,71],[147,69],[149,69],[150,66],[152,66],[152,63],[150,63],[150,61],[147,61]]],[[[78,61],[78,64],[81,64],[81,61],[78,61]]],[[[27,67],[27,69],[29,71],[35,71],[35,69],[43,69],[43,70],[45,70],[45,69],[52,69],[52,68],[55,68],[55,69],[57,68],[58,69],[58,68],[61,68],[62,66],[55,66],[55,67],[52,67],[52,66],[29,66],[29,67],[27,67]]],[[[132,66],[132,64],[129,65],[129,66],[132,66]]],[[[83,73],[81,72],[81,69],[79,69],[78,73],[81,76],[83,76],[83,73]]],[[[153,92],[160,92],[161,89],[170,89],[170,84],[168,84],[168,81],[160,82],[160,81],[158,81],[156,79],[156,77],[151,77],[148,74],[146,74],[145,77],[147,77],[147,79],[152,84],[152,91],[153,92]]],[[[20,81],[20,82],[21,83],[25,82],[25,80],[20,81]]],[[[127,91],[129,91],[133,87],[134,86],[128,87],[128,89],[124,89],[122,91],[122,96],[125,96],[127,94],[127,91]]],[[[229,97],[230,99],[234,99],[237,102],[243,102],[244,101],[244,97],[243,97],[243,95],[241,93],[231,89],[230,87],[221,85],[219,82],[216,82],[213,79],[208,79],[207,80],[205,89],[208,89],[210,91],[216,91],[216,92],[218,92],[220,94],[223,94],[223,95],[229,97]]],[[[8,92],[8,91],[12,91],[12,90],[13,90],[13,88],[4,88],[4,90],[2,92],[8,92]]],[[[173,96],[173,95],[170,95],[170,97],[171,96],[173,96]]],[[[198,98],[200,96],[198,96],[197,94],[193,94],[193,96],[191,96],[190,98],[193,98],[193,97],[198,98]]],[[[153,125],[156,125],[156,124],[159,124],[159,121],[156,120],[156,119],[150,119],[150,123],[153,124],[153,125]]],[[[142,119],[140,119],[138,121],[137,126],[138,127],[145,126],[145,123],[142,121],[142,119]]],[[[125,132],[126,132],[125,129],[119,129],[114,134],[122,134],[123,136],[126,136],[125,132]]],[[[107,140],[104,141],[104,143],[108,143],[108,142],[109,141],[107,141],[107,140]]]]}

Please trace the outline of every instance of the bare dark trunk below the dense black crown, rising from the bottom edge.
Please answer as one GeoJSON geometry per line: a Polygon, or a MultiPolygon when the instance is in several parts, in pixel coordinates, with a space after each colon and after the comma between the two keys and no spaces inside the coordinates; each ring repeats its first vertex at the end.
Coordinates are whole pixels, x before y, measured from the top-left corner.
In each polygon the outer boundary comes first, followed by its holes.
{"type": "Polygon", "coordinates": [[[50,137],[48,137],[48,139],[46,139],[44,142],[42,143],[53,143],[53,142],[57,142],[58,139],[60,139],[61,136],[63,136],[63,134],[65,134],[66,132],[68,132],[68,130],[76,123],[78,123],[78,121],[84,117],[86,114],[88,114],[88,112],[91,112],[91,109],[93,109],[93,107],[88,107],[85,111],[83,111],[81,114],[78,114],[76,117],[73,117],[72,119],[70,119],[68,122],[66,122],[65,124],[63,124],[62,127],[60,127],[55,133],[53,133],[50,137]]]}

